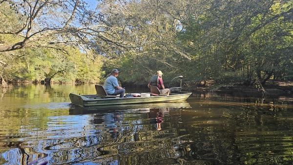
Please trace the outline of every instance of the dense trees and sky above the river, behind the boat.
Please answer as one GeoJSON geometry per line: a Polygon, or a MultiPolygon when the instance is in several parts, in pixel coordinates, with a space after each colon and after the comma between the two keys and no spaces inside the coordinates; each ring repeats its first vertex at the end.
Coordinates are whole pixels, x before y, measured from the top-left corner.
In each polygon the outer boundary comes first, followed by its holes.
{"type": "Polygon", "coordinates": [[[292,0],[0,0],[0,80],[293,80],[292,0]]]}

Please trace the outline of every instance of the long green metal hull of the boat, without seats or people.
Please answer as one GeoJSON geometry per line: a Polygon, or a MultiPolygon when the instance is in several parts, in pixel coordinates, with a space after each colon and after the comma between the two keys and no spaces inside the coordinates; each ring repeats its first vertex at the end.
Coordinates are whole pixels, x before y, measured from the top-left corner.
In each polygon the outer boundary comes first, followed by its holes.
{"type": "Polygon", "coordinates": [[[150,97],[129,97],[129,98],[108,98],[102,99],[96,95],[77,95],[69,94],[71,103],[80,106],[99,106],[99,105],[119,105],[119,104],[134,104],[134,103],[160,103],[172,101],[184,101],[191,93],[176,92],[168,96],[150,96],[150,97]]]}

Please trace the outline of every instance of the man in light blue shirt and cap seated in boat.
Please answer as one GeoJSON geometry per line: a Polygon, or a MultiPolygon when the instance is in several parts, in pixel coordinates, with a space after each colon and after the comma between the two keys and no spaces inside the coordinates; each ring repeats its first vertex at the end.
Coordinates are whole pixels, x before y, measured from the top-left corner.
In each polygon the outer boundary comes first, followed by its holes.
{"type": "Polygon", "coordinates": [[[119,71],[117,69],[113,69],[111,75],[107,77],[104,88],[108,95],[119,95],[120,98],[124,97],[125,89],[119,86],[117,77],[119,75],[119,71]]]}

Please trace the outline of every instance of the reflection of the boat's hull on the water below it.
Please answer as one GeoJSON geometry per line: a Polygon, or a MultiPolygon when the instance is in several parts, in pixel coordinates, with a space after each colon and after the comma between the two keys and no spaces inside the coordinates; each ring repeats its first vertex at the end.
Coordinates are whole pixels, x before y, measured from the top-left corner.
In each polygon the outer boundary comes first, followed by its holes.
{"type": "Polygon", "coordinates": [[[69,109],[70,115],[81,115],[88,113],[101,113],[116,110],[123,110],[127,112],[147,113],[150,108],[190,108],[187,102],[178,103],[139,103],[139,104],[122,104],[122,105],[104,105],[104,106],[72,106],[69,109]]]}

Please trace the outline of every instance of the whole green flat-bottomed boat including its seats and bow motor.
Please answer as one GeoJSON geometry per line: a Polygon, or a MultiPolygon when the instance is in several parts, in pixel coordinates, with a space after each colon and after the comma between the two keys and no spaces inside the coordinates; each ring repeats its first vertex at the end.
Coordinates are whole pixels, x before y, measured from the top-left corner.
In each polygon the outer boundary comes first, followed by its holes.
{"type": "Polygon", "coordinates": [[[149,93],[127,93],[124,98],[118,96],[107,95],[102,85],[95,85],[97,94],[93,95],[77,95],[69,94],[71,103],[80,106],[100,106],[100,105],[122,105],[137,103],[162,103],[184,101],[192,93],[181,91],[181,87],[172,87],[170,94],[160,94],[156,86],[150,86],[149,93]]]}

